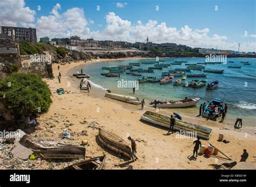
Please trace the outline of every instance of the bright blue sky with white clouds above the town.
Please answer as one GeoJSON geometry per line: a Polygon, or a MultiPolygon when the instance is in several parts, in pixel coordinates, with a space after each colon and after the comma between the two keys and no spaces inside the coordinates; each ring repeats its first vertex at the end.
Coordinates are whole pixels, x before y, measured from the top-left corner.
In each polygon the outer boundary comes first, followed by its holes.
{"type": "Polygon", "coordinates": [[[0,25],[37,38],[171,42],[256,51],[255,0],[1,0],[0,25]]]}

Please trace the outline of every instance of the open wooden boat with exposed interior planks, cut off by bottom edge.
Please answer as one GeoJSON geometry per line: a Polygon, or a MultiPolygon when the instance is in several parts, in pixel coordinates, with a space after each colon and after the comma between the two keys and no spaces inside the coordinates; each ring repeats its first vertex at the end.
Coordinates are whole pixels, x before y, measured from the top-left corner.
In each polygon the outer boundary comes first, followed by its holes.
{"type": "Polygon", "coordinates": [[[76,162],[63,170],[100,170],[103,168],[105,163],[105,156],[94,157],[89,160],[83,160],[76,162]]]}

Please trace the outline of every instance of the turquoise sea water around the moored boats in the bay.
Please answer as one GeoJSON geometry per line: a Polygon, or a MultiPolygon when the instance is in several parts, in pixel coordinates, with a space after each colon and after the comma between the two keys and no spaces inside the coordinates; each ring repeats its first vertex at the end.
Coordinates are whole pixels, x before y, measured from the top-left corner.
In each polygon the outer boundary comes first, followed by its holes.
{"type": "MultiPolygon", "coordinates": [[[[102,89],[110,89],[112,92],[121,93],[125,95],[132,95],[132,88],[118,88],[118,81],[136,81],[139,77],[128,75],[125,72],[120,73],[119,77],[105,77],[100,73],[108,73],[108,70],[102,70],[102,67],[114,67],[120,64],[129,64],[129,62],[143,62],[153,61],[154,59],[147,60],[124,60],[124,61],[108,61],[108,62],[96,62],[85,65],[83,68],[86,74],[91,75],[90,80],[95,83],[96,87],[102,89]]],[[[165,60],[165,63],[173,61],[187,61],[186,63],[205,62],[204,58],[171,58],[161,59],[165,60]]],[[[163,62],[160,62],[163,63],[163,62]]],[[[147,69],[147,67],[153,66],[152,64],[141,64],[140,68],[147,69]]],[[[217,89],[206,90],[206,86],[201,88],[183,87],[182,85],[175,86],[172,83],[160,85],[160,83],[142,83],[139,84],[139,89],[136,90],[136,96],[140,99],[145,99],[150,102],[154,99],[159,100],[175,100],[183,99],[185,97],[199,97],[200,102],[193,109],[184,110],[198,110],[200,104],[210,101],[211,98],[224,99],[224,103],[228,105],[228,114],[230,117],[230,123],[234,123],[237,117],[241,117],[247,126],[254,126],[256,119],[256,59],[250,58],[229,58],[226,64],[207,64],[206,69],[224,69],[223,74],[207,73],[207,77],[198,77],[200,79],[207,79],[208,82],[215,80],[219,81],[217,89]],[[229,63],[228,61],[234,61],[229,63]],[[248,61],[251,65],[244,65],[240,61],[248,61]],[[227,68],[227,66],[241,66],[241,69],[227,68]],[[247,85],[247,86],[246,86],[247,85]]],[[[161,73],[168,71],[169,69],[185,68],[185,63],[180,65],[171,65],[168,68],[162,70],[154,70],[154,73],[140,73],[143,76],[156,76],[161,77],[161,73]]],[[[134,68],[139,68],[134,66],[134,68]]],[[[127,70],[129,71],[129,70],[127,70]]],[[[137,72],[135,72],[137,73],[137,72]]],[[[191,73],[203,73],[200,70],[191,70],[191,73]]],[[[118,74],[118,73],[116,73],[118,74]]],[[[142,77],[142,76],[140,76],[142,77]]],[[[186,77],[186,75],[184,76],[186,77]]],[[[175,77],[178,79],[180,77],[175,77]]],[[[187,81],[192,80],[194,77],[187,77],[187,81]]],[[[243,125],[244,125],[243,123],[243,125]]]]}

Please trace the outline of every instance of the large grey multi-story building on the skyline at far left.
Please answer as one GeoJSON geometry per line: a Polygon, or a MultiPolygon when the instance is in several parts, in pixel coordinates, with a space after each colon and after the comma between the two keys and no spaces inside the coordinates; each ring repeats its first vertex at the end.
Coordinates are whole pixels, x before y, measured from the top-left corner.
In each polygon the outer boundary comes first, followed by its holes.
{"type": "Polygon", "coordinates": [[[36,28],[0,26],[0,33],[14,34],[16,40],[37,42],[36,28]]]}

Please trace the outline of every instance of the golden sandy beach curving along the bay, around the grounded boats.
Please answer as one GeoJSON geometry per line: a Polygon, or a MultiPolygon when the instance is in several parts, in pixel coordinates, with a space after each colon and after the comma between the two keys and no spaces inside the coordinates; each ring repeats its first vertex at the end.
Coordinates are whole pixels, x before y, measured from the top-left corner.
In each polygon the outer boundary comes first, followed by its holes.
{"type": "MultiPolygon", "coordinates": [[[[107,60],[109,59],[100,59],[100,61],[107,60]]],[[[45,81],[52,91],[53,103],[50,110],[39,118],[39,128],[41,130],[37,130],[32,135],[36,134],[41,139],[58,141],[60,140],[60,134],[64,132],[63,129],[66,128],[71,133],[71,138],[68,140],[70,143],[80,145],[82,140],[89,141],[89,146],[86,147],[87,158],[106,154],[104,169],[122,169],[122,167],[128,165],[133,166],[133,169],[213,169],[208,165],[227,161],[223,159],[224,156],[221,154],[210,158],[199,155],[197,160],[190,159],[193,154],[194,139],[176,138],[176,134],[166,135],[166,129],[147,125],[140,121],[140,117],[145,111],[156,110],[150,107],[149,103],[146,103],[144,110],[140,110],[140,106],[105,98],[103,91],[99,91],[93,86],[90,93],[79,90],[79,80],[73,77],[70,72],[72,69],[78,69],[93,62],[97,62],[97,60],[60,65],[61,83],[58,83],[57,78],[58,64],[52,64],[55,79],[45,79],[45,81]],[[64,88],[69,93],[58,95],[56,93],[58,88],[64,88]],[[52,128],[46,125],[46,122],[49,121],[54,124],[52,128]],[[93,123],[98,124],[97,126],[120,135],[130,145],[126,138],[128,133],[137,143],[137,157],[139,160],[129,162],[120,159],[116,153],[99,146],[96,142],[98,130],[87,127],[81,123],[83,121],[87,123],[94,121],[93,123]],[[73,125],[66,127],[66,124],[70,123],[73,125]],[[83,130],[87,131],[87,136],[81,133],[83,130]]],[[[84,71],[87,73],[86,69],[84,71]]],[[[160,110],[159,113],[170,116],[174,111],[174,109],[160,110]]],[[[249,132],[250,130],[246,129],[234,131],[234,127],[230,124],[206,121],[204,118],[197,118],[196,114],[183,115],[183,120],[212,128],[213,133],[208,142],[219,148],[233,161],[240,161],[243,149],[247,149],[249,154],[248,162],[256,161],[255,132],[249,132]],[[225,144],[217,141],[219,133],[223,133],[224,139],[230,142],[225,144]]],[[[203,145],[208,145],[205,140],[201,140],[201,142],[203,145]]],[[[64,166],[65,163],[59,168],[64,166]]]]}

